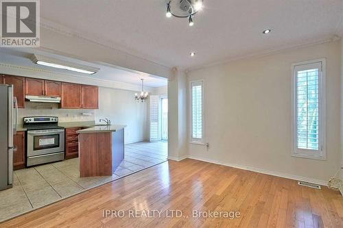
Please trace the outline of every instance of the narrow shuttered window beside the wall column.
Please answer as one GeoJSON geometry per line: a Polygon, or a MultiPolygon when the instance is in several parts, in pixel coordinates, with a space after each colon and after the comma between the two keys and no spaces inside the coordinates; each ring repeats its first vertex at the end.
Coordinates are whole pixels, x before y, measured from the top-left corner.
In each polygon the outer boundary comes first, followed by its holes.
{"type": "Polygon", "coordinates": [[[191,142],[204,143],[204,81],[191,82],[191,142]]]}

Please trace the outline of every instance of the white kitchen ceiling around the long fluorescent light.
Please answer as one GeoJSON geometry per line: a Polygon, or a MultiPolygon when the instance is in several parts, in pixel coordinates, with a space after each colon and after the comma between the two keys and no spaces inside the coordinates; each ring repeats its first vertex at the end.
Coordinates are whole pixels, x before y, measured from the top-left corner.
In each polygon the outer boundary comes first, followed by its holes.
{"type": "Polygon", "coordinates": [[[134,84],[134,85],[141,85],[141,79],[144,79],[144,86],[149,86],[152,88],[167,86],[167,79],[164,79],[164,78],[155,77],[152,75],[147,75],[147,74],[133,72],[133,71],[127,71],[125,69],[117,68],[115,66],[104,66],[103,64],[94,64],[94,63],[84,62],[80,60],[75,60],[73,58],[67,58],[65,56],[60,56],[53,53],[38,51],[36,49],[1,48],[0,49],[0,62],[4,64],[15,65],[15,66],[39,68],[45,71],[52,71],[54,73],[82,76],[82,77],[88,77],[91,79],[100,79],[100,80],[106,80],[106,81],[123,82],[123,83],[134,84]],[[43,55],[46,57],[56,58],[56,59],[64,60],[67,62],[82,64],[85,66],[93,66],[93,67],[99,68],[100,70],[94,75],[85,75],[82,73],[74,73],[73,71],[66,71],[62,69],[51,68],[49,66],[40,66],[40,65],[34,64],[31,60],[29,60],[29,57],[32,54],[43,55]]]}

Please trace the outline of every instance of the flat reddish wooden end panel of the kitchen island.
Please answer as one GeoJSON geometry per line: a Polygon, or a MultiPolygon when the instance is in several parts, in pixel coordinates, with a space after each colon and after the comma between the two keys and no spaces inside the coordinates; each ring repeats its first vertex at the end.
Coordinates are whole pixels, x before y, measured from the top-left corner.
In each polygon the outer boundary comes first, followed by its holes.
{"type": "Polygon", "coordinates": [[[80,134],[80,177],[113,175],[112,134],[80,134]]]}

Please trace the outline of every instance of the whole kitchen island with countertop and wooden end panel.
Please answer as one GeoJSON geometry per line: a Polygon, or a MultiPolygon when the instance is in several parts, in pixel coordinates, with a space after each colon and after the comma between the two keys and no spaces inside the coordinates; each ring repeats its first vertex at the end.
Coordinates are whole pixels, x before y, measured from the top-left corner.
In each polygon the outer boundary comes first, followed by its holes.
{"type": "Polygon", "coordinates": [[[125,127],[106,125],[78,131],[80,177],[113,175],[124,158],[125,127]]]}

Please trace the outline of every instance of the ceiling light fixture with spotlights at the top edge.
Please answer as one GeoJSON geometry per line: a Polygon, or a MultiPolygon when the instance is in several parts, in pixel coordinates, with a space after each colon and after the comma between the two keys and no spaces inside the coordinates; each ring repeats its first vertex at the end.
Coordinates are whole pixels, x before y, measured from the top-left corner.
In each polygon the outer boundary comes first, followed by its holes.
{"type": "Polygon", "coordinates": [[[169,0],[165,16],[188,18],[189,26],[193,26],[193,16],[202,9],[203,0],[169,0]]]}

